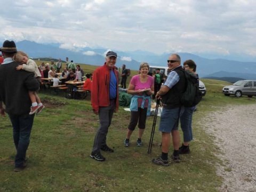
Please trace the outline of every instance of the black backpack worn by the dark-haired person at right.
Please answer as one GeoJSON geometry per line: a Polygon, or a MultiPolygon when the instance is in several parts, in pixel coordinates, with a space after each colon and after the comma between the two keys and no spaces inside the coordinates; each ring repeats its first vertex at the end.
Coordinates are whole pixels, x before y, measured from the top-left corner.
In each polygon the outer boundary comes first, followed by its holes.
{"type": "Polygon", "coordinates": [[[181,94],[180,101],[185,107],[196,106],[202,100],[202,92],[199,90],[197,75],[185,70],[186,90],[181,94]]]}

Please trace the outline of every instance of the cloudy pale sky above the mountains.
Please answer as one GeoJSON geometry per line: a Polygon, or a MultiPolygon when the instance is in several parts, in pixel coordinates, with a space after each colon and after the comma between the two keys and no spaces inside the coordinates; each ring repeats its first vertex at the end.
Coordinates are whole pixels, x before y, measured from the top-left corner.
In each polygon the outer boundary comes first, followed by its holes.
{"type": "MultiPolygon", "coordinates": [[[[255,0],[0,0],[0,41],[256,59],[255,0]]],[[[210,57],[210,56],[209,56],[210,57]]]]}

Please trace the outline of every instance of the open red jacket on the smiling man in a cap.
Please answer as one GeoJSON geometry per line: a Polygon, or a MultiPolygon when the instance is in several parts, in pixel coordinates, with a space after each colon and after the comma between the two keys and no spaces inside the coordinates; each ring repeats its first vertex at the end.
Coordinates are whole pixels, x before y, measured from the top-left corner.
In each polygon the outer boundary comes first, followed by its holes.
{"type": "MultiPolygon", "coordinates": [[[[116,75],[116,111],[118,110],[118,76],[119,73],[114,68],[116,75]]],[[[107,107],[109,102],[109,82],[110,82],[110,70],[106,66],[106,62],[103,66],[97,68],[93,73],[92,79],[92,91],[91,91],[91,103],[94,111],[99,111],[99,107],[107,107]]]]}

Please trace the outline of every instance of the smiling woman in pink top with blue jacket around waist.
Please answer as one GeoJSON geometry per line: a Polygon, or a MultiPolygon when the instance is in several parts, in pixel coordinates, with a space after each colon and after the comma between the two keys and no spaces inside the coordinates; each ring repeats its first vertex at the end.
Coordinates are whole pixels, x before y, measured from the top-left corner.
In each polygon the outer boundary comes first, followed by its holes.
{"type": "Polygon", "coordinates": [[[128,126],[124,146],[130,145],[130,137],[139,122],[139,136],[137,146],[141,146],[141,137],[145,130],[147,111],[150,111],[150,95],[154,94],[154,78],[148,75],[149,65],[146,62],[140,64],[140,74],[132,77],[127,93],[132,94],[131,100],[131,120],[128,126]]]}

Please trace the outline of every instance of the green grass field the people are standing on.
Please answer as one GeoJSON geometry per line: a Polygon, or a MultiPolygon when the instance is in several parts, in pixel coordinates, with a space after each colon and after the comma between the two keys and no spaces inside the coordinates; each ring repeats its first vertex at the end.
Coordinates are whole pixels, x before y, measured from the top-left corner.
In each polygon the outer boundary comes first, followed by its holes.
{"type": "Polygon", "coordinates": [[[97,162],[89,157],[99,125],[89,99],[68,100],[41,93],[46,108],[35,117],[27,151],[28,167],[24,171],[13,171],[12,127],[9,118],[0,117],[0,191],[218,191],[222,179],[215,174],[214,165],[221,164],[220,150],[204,132],[202,122],[220,107],[255,103],[255,98],[225,97],[221,89],[227,82],[202,81],[207,93],[194,114],[191,154],[182,155],[181,163],[171,163],[169,167],[151,163],[152,158],[161,154],[158,131],[152,154],[147,154],[153,116],[147,119],[142,147],[135,145],[135,129],[131,146],[125,148],[130,114],[120,107],[114,114],[107,140],[115,153],[102,152],[107,161],[97,162]]]}

